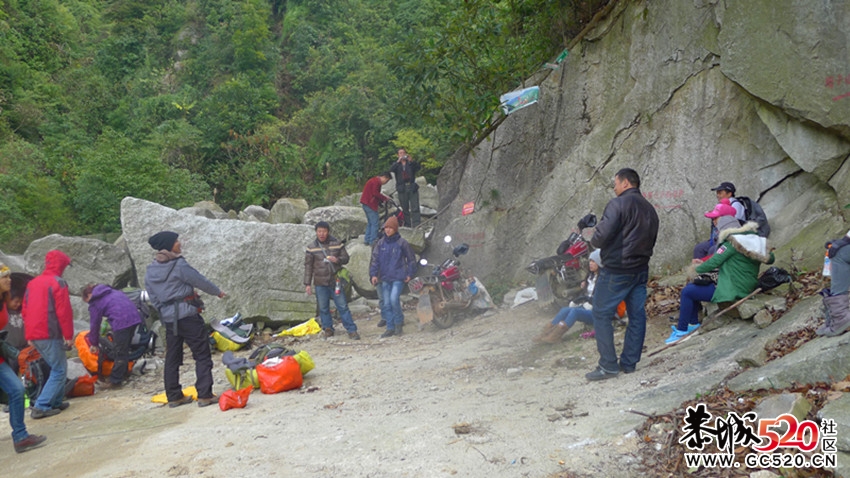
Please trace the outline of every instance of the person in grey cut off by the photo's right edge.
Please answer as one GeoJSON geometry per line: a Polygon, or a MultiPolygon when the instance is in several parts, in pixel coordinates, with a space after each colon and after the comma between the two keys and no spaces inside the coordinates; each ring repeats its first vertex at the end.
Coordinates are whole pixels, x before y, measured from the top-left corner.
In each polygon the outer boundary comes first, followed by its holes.
{"type": "Polygon", "coordinates": [[[841,335],[850,328],[850,247],[847,245],[850,245],[850,231],[841,239],[826,243],[831,284],[829,289],[821,291],[826,320],[815,331],[818,335],[841,335]]]}

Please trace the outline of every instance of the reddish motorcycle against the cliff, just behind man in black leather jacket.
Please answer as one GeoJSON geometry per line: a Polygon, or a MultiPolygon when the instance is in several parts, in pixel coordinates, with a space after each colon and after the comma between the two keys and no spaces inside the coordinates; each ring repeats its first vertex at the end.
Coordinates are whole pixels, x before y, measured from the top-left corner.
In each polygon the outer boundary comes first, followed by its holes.
{"type": "Polygon", "coordinates": [[[578,229],[558,246],[556,255],[537,259],[526,270],[537,276],[537,300],[548,305],[557,300],[566,305],[581,290],[582,258],[590,255],[590,243],[581,231],[596,226],[596,216],[588,214],[578,221],[578,229]]]}

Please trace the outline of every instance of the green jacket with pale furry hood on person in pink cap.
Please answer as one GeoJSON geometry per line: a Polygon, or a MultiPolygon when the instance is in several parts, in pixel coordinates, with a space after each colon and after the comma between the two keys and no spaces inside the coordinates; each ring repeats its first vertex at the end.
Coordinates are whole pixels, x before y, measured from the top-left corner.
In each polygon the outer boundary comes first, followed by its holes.
{"type": "Polygon", "coordinates": [[[717,289],[712,302],[733,302],[746,297],[758,285],[759,266],[773,264],[767,241],[756,233],[758,223],[750,221],[720,233],[720,246],[711,258],[696,267],[700,274],[718,269],[717,289]]]}

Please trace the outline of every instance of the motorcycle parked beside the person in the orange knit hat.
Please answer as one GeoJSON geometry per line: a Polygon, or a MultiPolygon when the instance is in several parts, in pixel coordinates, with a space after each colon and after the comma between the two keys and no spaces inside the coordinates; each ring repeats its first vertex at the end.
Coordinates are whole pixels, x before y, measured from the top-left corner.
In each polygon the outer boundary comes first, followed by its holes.
{"type": "MultiPolygon", "coordinates": [[[[451,244],[451,236],[444,241],[451,244]]],[[[460,268],[460,256],[469,252],[468,244],[452,249],[452,256],[433,268],[427,276],[414,277],[408,283],[411,292],[419,294],[416,313],[420,327],[429,322],[441,329],[452,326],[459,311],[475,308],[487,309],[493,300],[484,286],[474,276],[460,268]]],[[[428,265],[427,259],[419,263],[428,265]]]]}

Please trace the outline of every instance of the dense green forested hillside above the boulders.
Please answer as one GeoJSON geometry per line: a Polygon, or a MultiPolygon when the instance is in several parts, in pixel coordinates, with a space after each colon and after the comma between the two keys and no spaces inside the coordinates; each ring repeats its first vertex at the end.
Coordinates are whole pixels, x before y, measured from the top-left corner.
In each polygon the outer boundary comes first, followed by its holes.
{"type": "Polygon", "coordinates": [[[0,245],[124,196],[321,205],[433,179],[594,8],[573,0],[0,0],[0,245]]]}

